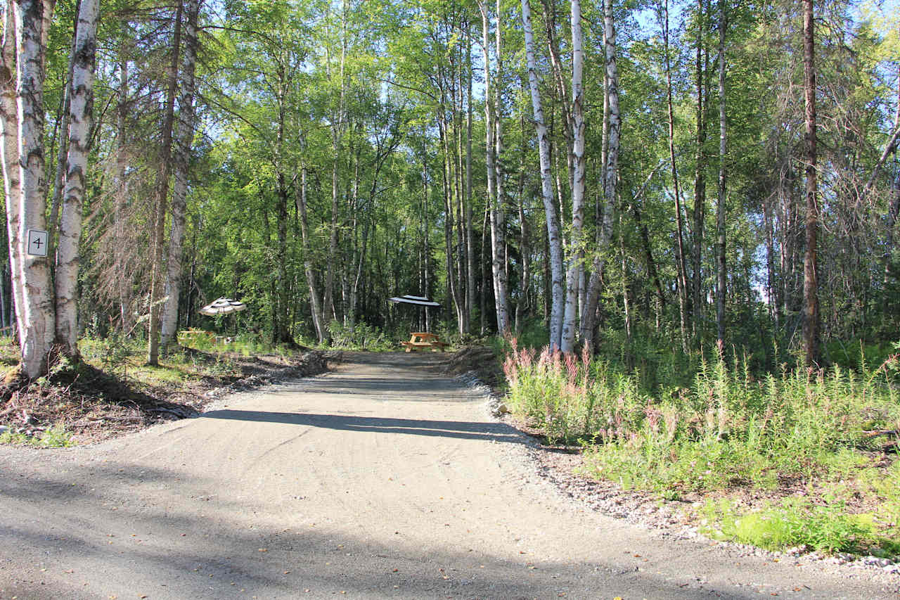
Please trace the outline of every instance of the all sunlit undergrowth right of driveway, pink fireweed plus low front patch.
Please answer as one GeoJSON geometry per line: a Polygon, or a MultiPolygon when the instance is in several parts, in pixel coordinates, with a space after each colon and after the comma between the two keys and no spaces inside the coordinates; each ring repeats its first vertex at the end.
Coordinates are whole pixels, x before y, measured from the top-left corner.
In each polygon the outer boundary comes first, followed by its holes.
{"type": "Polygon", "coordinates": [[[621,365],[586,352],[519,349],[513,340],[507,404],[548,442],[581,443],[593,477],[668,500],[725,491],[725,504],[707,508],[721,537],[896,553],[896,354],[875,367],[860,357],[858,368],[758,376],[748,359],[718,353],[698,360],[688,385],[669,387],[647,385],[638,368],[621,365]],[[788,497],[797,486],[821,501],[788,497]],[[733,490],[761,491],[770,505],[743,514],[727,504],[733,490]]]}

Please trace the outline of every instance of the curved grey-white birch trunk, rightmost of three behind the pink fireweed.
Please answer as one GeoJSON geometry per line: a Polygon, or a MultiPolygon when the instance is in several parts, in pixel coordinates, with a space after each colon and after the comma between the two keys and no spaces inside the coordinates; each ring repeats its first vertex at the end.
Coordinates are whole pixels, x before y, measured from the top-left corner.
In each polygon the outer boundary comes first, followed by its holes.
{"type": "MultiPolygon", "coordinates": [[[[590,283],[588,284],[588,303],[585,308],[582,324],[582,332],[586,344],[593,344],[594,341],[594,319],[597,314],[597,304],[599,302],[601,277],[603,274],[604,257],[603,252],[607,250],[609,242],[613,237],[613,218],[616,213],[616,201],[618,195],[618,155],[620,135],[622,132],[622,121],[619,117],[619,98],[618,98],[618,66],[617,66],[617,46],[616,46],[616,27],[613,21],[613,3],[612,0],[604,0],[603,9],[603,38],[606,53],[606,81],[608,96],[608,150],[607,164],[604,169],[606,180],[603,187],[605,190],[605,200],[603,207],[603,221],[599,223],[597,228],[597,248],[594,250],[593,267],[590,274],[590,283]]],[[[573,17],[574,18],[574,17],[573,17]]],[[[574,31],[574,30],[573,30],[574,31]]]]}

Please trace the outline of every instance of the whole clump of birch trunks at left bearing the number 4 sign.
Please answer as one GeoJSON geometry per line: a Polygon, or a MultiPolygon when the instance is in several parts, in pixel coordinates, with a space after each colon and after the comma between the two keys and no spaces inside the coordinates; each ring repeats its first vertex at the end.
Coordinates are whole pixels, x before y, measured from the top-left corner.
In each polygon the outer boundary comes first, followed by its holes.
{"type": "Polygon", "coordinates": [[[47,233],[44,231],[47,181],[43,123],[45,49],[53,3],[49,0],[8,0],[4,7],[0,126],[4,140],[9,256],[26,377],[38,377],[47,371],[55,341],[58,341],[60,352],[77,355],[78,241],[93,114],[98,2],[82,0],[78,13],[76,68],[71,82],[71,125],[69,131],[64,132],[69,135],[69,154],[55,294],[50,284],[47,233]]]}

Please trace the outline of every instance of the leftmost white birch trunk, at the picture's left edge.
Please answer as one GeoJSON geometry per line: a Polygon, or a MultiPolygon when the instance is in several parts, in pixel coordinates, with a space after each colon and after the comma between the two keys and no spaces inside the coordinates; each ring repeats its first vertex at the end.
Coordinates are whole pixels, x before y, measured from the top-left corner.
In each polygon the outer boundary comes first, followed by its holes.
{"type": "Polygon", "coordinates": [[[4,197],[6,198],[6,232],[9,239],[10,280],[16,317],[19,347],[24,347],[23,335],[23,273],[19,244],[20,185],[19,185],[19,115],[15,105],[15,26],[12,0],[4,3],[2,59],[0,59],[0,135],[3,143],[4,197]]]}

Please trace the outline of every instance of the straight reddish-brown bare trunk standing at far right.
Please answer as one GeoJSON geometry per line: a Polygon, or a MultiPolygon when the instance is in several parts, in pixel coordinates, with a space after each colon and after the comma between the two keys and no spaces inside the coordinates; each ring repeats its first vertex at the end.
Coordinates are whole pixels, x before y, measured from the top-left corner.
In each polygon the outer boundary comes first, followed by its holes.
{"type": "Polygon", "coordinates": [[[806,105],[806,254],[803,259],[803,351],[807,366],[819,359],[819,234],[815,148],[815,21],[813,0],[803,0],[803,84],[806,105]]]}

